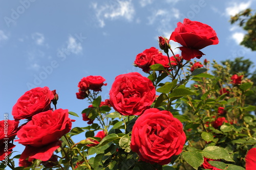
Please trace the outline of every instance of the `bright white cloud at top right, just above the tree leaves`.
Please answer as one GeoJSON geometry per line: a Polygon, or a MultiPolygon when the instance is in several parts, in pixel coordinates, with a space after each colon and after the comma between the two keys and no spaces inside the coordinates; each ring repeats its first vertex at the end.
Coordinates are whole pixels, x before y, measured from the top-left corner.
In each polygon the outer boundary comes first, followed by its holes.
{"type": "Polygon", "coordinates": [[[251,1],[248,1],[247,3],[245,2],[229,2],[228,7],[225,10],[225,14],[227,16],[233,16],[239,13],[240,11],[243,11],[247,8],[249,8],[251,5],[251,1]]]}

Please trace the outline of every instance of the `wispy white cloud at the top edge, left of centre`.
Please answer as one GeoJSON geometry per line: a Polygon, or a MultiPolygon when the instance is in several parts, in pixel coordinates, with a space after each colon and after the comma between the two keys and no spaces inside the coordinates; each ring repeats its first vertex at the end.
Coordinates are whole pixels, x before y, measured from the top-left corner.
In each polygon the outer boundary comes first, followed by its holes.
{"type": "Polygon", "coordinates": [[[97,3],[92,4],[92,8],[95,10],[96,17],[100,27],[105,26],[105,19],[118,19],[124,18],[127,21],[132,21],[135,15],[135,9],[132,1],[110,1],[108,4],[99,6],[97,3]]]}

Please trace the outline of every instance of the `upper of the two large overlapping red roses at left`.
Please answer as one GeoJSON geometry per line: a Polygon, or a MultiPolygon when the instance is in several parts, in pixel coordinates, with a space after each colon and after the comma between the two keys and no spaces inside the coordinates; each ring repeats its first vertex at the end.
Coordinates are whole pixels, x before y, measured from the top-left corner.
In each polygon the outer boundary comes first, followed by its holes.
{"type": "Polygon", "coordinates": [[[31,119],[37,113],[51,109],[54,95],[48,87],[36,87],[23,94],[12,108],[15,120],[31,119]]]}

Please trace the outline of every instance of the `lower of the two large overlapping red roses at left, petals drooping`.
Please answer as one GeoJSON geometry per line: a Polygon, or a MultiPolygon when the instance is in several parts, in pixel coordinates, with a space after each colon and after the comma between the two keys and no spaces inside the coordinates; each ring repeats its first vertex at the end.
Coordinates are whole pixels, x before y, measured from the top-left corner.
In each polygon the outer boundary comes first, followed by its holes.
{"type": "Polygon", "coordinates": [[[32,117],[18,132],[19,143],[26,146],[20,160],[40,159],[47,161],[61,145],[59,139],[71,130],[69,111],[63,109],[48,110],[32,117]]]}

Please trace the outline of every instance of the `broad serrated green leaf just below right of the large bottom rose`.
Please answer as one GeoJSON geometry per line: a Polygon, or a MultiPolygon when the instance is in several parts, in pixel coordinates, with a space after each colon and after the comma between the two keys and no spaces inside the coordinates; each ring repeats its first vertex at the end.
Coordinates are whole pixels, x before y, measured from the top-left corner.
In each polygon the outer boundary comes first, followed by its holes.
{"type": "Polygon", "coordinates": [[[184,160],[195,169],[204,162],[203,155],[198,151],[183,152],[182,156],[184,160]]]}

